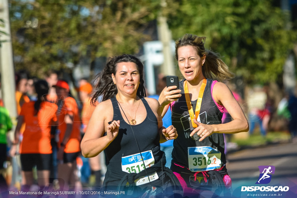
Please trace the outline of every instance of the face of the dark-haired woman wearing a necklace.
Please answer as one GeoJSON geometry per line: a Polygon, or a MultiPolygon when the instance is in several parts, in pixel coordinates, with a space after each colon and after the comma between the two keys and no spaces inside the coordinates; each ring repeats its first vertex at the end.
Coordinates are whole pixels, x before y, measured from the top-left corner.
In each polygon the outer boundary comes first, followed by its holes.
{"type": "Polygon", "coordinates": [[[136,94],[140,83],[140,74],[135,63],[118,63],[116,66],[116,73],[112,74],[112,78],[113,82],[116,83],[118,92],[136,94]]]}

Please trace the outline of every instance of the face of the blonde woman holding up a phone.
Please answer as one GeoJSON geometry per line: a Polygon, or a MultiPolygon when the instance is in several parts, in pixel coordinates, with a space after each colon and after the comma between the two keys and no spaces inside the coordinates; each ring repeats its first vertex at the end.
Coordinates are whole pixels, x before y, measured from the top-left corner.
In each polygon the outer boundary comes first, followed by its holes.
{"type": "Polygon", "coordinates": [[[187,81],[199,79],[199,76],[203,75],[202,64],[205,62],[205,55],[200,58],[191,45],[179,47],[177,54],[179,70],[187,81]]]}

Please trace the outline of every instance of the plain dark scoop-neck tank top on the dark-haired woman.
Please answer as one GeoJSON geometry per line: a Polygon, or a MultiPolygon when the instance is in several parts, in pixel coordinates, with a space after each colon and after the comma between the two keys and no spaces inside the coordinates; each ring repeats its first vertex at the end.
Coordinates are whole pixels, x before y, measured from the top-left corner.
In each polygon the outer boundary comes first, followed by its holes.
{"type": "MultiPolygon", "coordinates": [[[[135,133],[140,151],[151,150],[156,164],[162,157],[159,143],[158,120],[147,101],[144,98],[141,98],[141,101],[146,108],[146,118],[142,123],[131,126],[135,133]]],[[[113,120],[120,120],[120,127],[117,137],[105,148],[108,165],[103,186],[117,186],[121,178],[127,174],[127,172],[122,171],[122,157],[139,153],[131,126],[123,119],[116,97],[111,98],[111,102],[113,105],[113,120]]]]}

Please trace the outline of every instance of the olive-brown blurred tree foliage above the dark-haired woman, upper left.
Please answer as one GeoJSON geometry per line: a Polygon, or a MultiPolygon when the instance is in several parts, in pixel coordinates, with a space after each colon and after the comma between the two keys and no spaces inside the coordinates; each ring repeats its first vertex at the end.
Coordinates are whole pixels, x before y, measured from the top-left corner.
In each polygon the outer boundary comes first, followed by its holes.
{"type": "Polygon", "coordinates": [[[82,57],[138,53],[160,9],[158,0],[10,0],[16,70],[40,76],[82,57]]]}

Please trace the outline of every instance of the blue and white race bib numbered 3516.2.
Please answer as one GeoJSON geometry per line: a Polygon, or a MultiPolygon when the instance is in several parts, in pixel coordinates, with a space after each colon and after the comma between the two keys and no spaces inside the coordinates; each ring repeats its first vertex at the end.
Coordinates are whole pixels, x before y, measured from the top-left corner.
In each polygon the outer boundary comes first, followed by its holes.
{"type": "Polygon", "coordinates": [[[189,169],[192,172],[219,169],[221,153],[210,146],[188,147],[189,169]]]}

